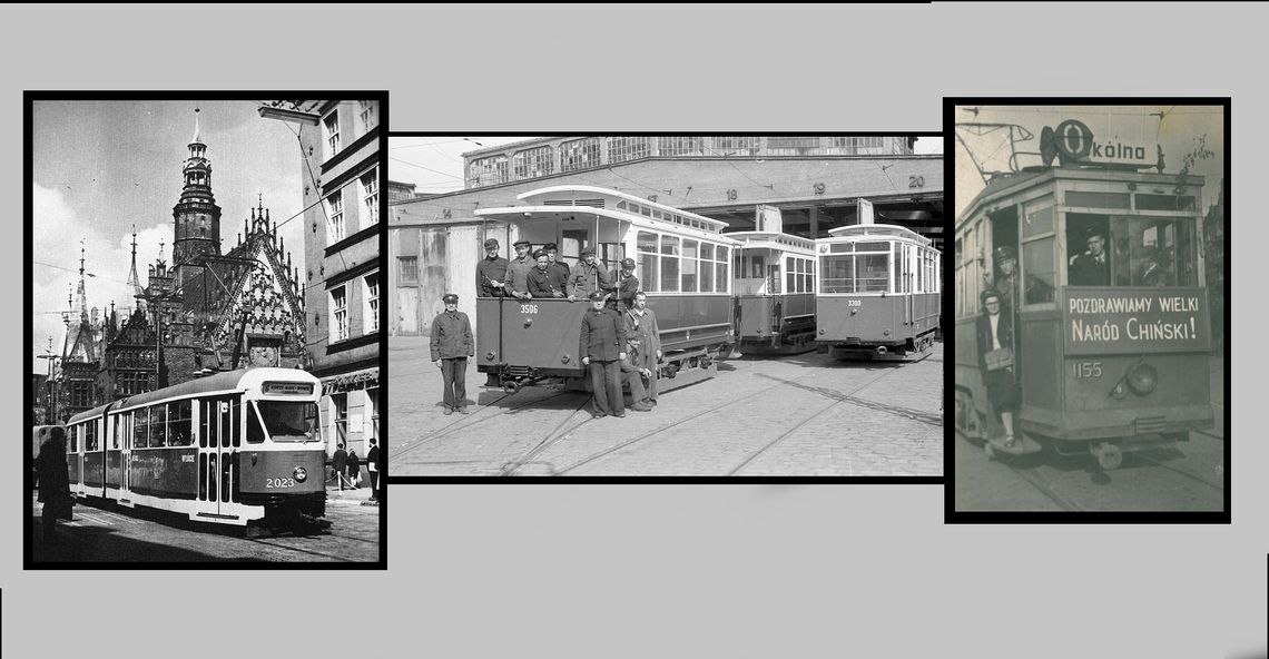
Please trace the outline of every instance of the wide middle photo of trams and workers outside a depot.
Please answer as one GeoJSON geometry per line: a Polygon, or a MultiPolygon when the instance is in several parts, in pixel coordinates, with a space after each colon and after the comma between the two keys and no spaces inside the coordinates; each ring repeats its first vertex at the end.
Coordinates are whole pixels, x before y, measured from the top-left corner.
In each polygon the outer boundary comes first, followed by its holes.
{"type": "Polygon", "coordinates": [[[940,136],[388,143],[393,483],[942,475],[940,136]]]}

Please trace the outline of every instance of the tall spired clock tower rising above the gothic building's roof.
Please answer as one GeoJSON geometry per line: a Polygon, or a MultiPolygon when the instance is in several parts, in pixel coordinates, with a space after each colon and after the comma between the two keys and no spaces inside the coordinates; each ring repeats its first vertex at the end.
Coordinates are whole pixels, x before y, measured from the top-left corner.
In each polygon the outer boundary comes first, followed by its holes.
{"type": "Polygon", "coordinates": [[[199,136],[198,108],[194,108],[194,137],[189,142],[189,157],[181,174],[185,187],[171,210],[176,221],[171,248],[174,268],[221,254],[221,207],[216,206],[216,197],[212,196],[212,164],[207,160],[207,145],[199,136]]]}

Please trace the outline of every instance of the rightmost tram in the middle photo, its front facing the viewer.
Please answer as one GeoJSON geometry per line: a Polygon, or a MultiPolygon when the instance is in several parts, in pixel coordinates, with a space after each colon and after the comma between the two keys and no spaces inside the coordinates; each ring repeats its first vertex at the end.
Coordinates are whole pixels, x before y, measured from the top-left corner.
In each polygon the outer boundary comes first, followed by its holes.
{"type": "Polygon", "coordinates": [[[853,225],[816,240],[816,342],[844,358],[916,359],[939,326],[939,253],[893,225],[853,225]]]}

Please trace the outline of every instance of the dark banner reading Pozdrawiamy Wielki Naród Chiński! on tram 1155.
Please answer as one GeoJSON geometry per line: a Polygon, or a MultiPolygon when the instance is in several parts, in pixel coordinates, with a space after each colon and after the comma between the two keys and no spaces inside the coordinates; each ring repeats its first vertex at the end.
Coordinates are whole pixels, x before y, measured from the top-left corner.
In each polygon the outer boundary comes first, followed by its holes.
{"type": "Polygon", "coordinates": [[[1207,352],[1206,288],[1066,290],[1067,354],[1207,352]]]}

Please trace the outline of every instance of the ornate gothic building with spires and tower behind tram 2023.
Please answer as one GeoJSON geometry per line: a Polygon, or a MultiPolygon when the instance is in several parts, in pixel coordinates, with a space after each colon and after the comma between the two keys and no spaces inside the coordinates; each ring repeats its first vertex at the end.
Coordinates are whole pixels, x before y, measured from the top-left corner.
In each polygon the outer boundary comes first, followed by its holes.
{"type": "Polygon", "coordinates": [[[80,260],[81,311],[77,324],[67,315],[56,383],[61,420],[211,371],[311,367],[298,269],[263,198],[244,218],[235,246],[222,254],[221,208],[197,116],[188,149],[173,208],[173,262],[160,253],[145,286],[133,234],[128,286],[136,306],[122,319],[113,303],[108,317],[98,319],[96,309],[90,314],[80,260]]]}

